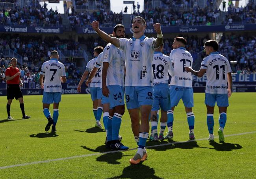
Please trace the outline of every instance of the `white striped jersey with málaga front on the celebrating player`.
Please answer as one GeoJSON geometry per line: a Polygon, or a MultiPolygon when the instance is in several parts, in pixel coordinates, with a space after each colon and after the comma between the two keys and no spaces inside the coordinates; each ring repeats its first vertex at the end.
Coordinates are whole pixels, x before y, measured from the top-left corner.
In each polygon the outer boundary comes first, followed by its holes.
{"type": "Polygon", "coordinates": [[[155,38],[119,39],[125,57],[125,86],[153,86],[152,59],[155,38]]]}

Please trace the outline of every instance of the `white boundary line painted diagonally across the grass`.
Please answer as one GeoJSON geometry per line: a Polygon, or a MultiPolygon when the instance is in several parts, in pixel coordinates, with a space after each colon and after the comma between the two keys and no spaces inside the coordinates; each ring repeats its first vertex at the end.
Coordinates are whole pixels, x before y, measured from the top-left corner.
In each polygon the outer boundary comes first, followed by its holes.
{"type": "MultiPolygon", "coordinates": [[[[253,134],[253,133],[256,133],[256,131],[246,132],[246,133],[238,133],[238,134],[230,134],[230,135],[225,135],[225,137],[231,137],[231,136],[237,136],[237,135],[246,135],[246,134],[253,134]]],[[[206,139],[207,138],[200,138],[200,139],[197,139],[197,140],[187,140],[187,141],[183,141],[183,142],[170,142],[170,143],[167,143],[167,144],[147,146],[146,148],[155,148],[155,147],[160,147],[160,146],[168,146],[168,145],[173,145],[173,144],[181,144],[181,143],[194,142],[194,141],[200,141],[200,140],[206,140],[206,139]]],[[[137,148],[128,149],[128,150],[135,150],[135,149],[137,149],[137,148]]],[[[102,153],[91,153],[91,154],[87,154],[87,155],[78,155],[78,156],[65,157],[65,158],[59,158],[59,159],[50,159],[50,160],[46,160],[46,161],[36,161],[36,162],[30,162],[30,163],[2,166],[2,167],[0,167],[0,170],[6,169],[6,168],[13,168],[13,167],[17,167],[17,166],[26,166],[26,165],[32,165],[32,164],[54,162],[54,161],[64,161],[64,160],[69,160],[69,159],[90,157],[90,156],[94,156],[94,155],[102,155],[102,154],[107,154],[107,153],[117,153],[117,152],[120,152],[120,151],[122,151],[122,150],[107,151],[107,152],[102,152],[102,153]]]]}

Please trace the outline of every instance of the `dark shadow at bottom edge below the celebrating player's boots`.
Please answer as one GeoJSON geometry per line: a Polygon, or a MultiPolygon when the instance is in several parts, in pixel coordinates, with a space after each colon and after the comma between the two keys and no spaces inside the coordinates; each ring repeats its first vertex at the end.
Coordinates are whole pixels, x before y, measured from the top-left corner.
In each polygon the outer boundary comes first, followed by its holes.
{"type": "Polygon", "coordinates": [[[129,179],[162,179],[155,175],[154,168],[143,164],[129,165],[122,170],[122,175],[108,179],[129,178],[129,179]]]}

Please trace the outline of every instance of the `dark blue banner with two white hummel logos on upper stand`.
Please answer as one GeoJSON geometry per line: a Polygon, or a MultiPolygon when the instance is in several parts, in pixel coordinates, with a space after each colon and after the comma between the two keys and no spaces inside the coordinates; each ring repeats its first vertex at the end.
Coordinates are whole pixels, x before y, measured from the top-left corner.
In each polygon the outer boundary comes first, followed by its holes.
{"type": "Polygon", "coordinates": [[[60,27],[0,26],[0,32],[13,33],[63,33],[60,27]]]}

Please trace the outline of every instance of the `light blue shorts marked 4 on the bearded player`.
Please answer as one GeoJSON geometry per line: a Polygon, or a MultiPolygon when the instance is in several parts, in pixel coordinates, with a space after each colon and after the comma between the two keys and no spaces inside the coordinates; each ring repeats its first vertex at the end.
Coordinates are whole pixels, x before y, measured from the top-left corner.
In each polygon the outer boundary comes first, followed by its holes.
{"type": "Polygon", "coordinates": [[[115,106],[124,105],[124,87],[119,85],[109,85],[109,108],[113,109],[115,106]]]}

